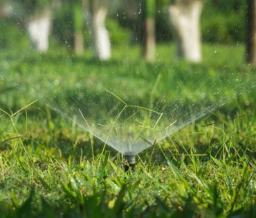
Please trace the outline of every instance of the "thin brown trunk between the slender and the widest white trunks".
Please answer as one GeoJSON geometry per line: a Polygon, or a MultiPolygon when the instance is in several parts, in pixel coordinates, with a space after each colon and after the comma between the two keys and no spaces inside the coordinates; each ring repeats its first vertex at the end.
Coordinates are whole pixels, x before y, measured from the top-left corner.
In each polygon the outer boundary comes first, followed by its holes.
{"type": "Polygon", "coordinates": [[[145,37],[143,54],[148,62],[155,60],[156,52],[156,36],[155,36],[155,0],[144,0],[144,12],[145,12],[145,37]]]}

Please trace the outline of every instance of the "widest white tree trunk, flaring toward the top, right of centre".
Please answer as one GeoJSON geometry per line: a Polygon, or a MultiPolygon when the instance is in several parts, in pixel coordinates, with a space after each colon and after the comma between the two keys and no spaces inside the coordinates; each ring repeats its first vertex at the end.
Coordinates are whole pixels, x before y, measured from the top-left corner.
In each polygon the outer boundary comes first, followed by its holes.
{"type": "Polygon", "coordinates": [[[169,8],[170,19],[178,41],[178,55],[187,61],[200,62],[200,16],[203,2],[178,0],[169,8]]]}

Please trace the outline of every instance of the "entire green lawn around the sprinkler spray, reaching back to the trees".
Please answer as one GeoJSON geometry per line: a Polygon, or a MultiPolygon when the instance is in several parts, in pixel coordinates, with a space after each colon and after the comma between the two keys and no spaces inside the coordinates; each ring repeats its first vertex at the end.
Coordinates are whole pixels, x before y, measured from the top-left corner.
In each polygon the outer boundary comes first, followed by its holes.
{"type": "MultiPolygon", "coordinates": [[[[116,48],[109,63],[91,59],[89,51],[76,59],[56,48],[44,55],[23,50],[21,57],[21,48],[0,54],[5,77],[0,80],[0,217],[256,216],[255,90],[141,152],[136,170],[129,172],[123,170],[122,155],[77,127],[75,116],[68,120],[45,101],[33,102],[38,95],[32,85],[48,75],[56,83],[65,81],[62,77],[71,84],[86,78],[94,83],[85,81],[79,88],[98,93],[102,88],[95,84],[111,88],[123,80],[118,95],[140,105],[149,99],[159,74],[162,92],[179,95],[186,88],[182,100],[192,101],[200,95],[194,90],[210,93],[221,87],[212,86],[205,75],[223,77],[231,87],[232,73],[255,73],[244,65],[244,46],[204,45],[199,65],[170,57],[174,47],[166,45],[158,46],[156,65],[141,61],[138,47],[116,48]],[[17,81],[26,81],[26,92],[15,87],[17,81]],[[186,83],[177,90],[167,81],[186,83]],[[194,89],[196,81],[206,82],[194,89]],[[136,95],[126,97],[128,90],[136,95]]],[[[72,94],[70,84],[62,88],[72,94]]]]}

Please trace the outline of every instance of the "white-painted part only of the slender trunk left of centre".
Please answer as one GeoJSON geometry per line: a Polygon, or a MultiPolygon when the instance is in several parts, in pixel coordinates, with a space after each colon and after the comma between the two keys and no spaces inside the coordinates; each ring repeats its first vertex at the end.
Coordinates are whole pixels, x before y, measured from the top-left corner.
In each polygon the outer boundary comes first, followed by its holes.
{"type": "Polygon", "coordinates": [[[111,57],[111,43],[109,32],[104,25],[107,17],[107,8],[97,8],[91,15],[95,56],[100,60],[108,60],[111,57]]]}

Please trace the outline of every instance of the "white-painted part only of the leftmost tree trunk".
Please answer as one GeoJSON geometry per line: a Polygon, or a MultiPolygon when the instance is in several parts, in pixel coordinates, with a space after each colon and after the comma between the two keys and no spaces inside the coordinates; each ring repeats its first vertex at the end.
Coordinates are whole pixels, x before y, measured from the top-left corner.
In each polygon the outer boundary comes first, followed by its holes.
{"type": "Polygon", "coordinates": [[[39,52],[46,52],[46,50],[48,50],[51,20],[51,10],[45,10],[28,19],[30,41],[39,52]]]}

